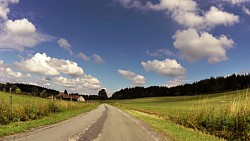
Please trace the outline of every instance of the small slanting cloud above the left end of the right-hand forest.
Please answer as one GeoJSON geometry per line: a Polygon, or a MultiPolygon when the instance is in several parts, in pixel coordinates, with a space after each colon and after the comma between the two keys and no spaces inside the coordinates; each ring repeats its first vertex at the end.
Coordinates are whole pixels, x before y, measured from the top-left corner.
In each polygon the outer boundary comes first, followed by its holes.
{"type": "Polygon", "coordinates": [[[146,82],[146,79],[142,75],[138,75],[134,72],[127,70],[118,70],[119,74],[121,74],[125,79],[132,82],[134,86],[143,85],[146,82]]]}

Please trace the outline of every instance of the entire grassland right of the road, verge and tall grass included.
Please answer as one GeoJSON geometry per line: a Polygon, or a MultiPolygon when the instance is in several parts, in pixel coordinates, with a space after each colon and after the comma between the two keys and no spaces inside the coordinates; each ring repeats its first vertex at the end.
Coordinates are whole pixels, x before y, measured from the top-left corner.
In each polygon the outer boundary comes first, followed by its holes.
{"type": "Polygon", "coordinates": [[[248,89],[203,96],[154,97],[109,102],[176,140],[250,140],[248,89]]]}

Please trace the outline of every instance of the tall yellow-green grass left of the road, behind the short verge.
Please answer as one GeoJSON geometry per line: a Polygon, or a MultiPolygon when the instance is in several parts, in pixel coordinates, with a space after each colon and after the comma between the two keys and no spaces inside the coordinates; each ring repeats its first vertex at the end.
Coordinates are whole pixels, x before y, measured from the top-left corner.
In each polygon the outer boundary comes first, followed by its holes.
{"type": "Polygon", "coordinates": [[[88,107],[88,104],[61,100],[33,101],[32,99],[28,99],[14,103],[11,108],[9,101],[1,100],[0,124],[6,125],[11,122],[35,120],[50,114],[85,107],[88,107]]]}

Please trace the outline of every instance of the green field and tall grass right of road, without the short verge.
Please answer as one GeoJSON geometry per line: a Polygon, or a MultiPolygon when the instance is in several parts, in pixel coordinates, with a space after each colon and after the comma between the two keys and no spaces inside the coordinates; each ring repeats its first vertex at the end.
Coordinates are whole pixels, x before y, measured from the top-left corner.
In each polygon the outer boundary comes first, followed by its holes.
{"type": "Polygon", "coordinates": [[[225,96],[218,94],[200,98],[166,98],[165,102],[160,98],[154,100],[121,101],[116,105],[154,114],[167,121],[226,140],[250,140],[248,89],[225,96]]]}

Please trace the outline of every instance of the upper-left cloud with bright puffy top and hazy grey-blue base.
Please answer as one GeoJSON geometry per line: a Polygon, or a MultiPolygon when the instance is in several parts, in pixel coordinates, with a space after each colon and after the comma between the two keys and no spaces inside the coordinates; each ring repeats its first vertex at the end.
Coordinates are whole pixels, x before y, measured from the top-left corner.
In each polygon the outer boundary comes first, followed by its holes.
{"type": "MultiPolygon", "coordinates": [[[[0,23],[1,24],[1,23],[0,23]]],[[[36,31],[36,27],[27,19],[8,20],[0,28],[0,50],[18,50],[32,48],[52,39],[51,36],[36,31]]]]}

